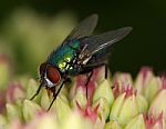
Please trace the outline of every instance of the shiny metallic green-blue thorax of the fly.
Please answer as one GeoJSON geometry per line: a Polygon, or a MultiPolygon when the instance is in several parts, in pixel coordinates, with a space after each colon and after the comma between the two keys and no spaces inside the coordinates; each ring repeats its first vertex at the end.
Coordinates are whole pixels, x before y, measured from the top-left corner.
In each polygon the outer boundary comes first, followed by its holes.
{"type": "Polygon", "coordinates": [[[55,51],[53,51],[48,61],[49,63],[59,68],[61,72],[64,72],[65,70],[72,70],[73,68],[71,67],[71,63],[74,56],[76,54],[76,50],[79,49],[79,40],[69,41],[68,43],[64,43],[64,46],[61,46],[55,51]]]}

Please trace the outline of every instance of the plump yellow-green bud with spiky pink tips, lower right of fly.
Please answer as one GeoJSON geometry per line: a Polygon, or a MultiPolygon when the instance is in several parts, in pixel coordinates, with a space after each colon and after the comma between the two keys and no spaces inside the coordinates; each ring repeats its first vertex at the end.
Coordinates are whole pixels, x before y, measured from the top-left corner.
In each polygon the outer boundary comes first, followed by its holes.
{"type": "Polygon", "coordinates": [[[110,120],[116,120],[121,126],[125,126],[133,117],[137,116],[141,109],[136,96],[129,88],[120,95],[111,109],[110,120]]]}

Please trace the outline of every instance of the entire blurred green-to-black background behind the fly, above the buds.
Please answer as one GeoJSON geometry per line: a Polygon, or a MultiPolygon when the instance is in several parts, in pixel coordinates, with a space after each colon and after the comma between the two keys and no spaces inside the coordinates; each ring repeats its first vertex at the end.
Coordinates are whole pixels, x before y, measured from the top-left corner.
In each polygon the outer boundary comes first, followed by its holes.
{"type": "Polygon", "coordinates": [[[95,33],[134,28],[114,46],[112,72],[135,75],[142,66],[166,71],[166,1],[164,0],[6,0],[0,1],[0,53],[14,73],[37,76],[39,64],[81,19],[98,13],[95,33]]]}

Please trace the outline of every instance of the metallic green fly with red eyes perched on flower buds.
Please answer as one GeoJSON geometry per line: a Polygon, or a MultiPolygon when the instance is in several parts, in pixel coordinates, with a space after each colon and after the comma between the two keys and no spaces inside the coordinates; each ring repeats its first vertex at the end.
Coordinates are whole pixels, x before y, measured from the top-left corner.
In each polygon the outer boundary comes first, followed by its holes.
{"type": "Polygon", "coordinates": [[[110,53],[110,48],[113,43],[126,37],[132,27],[91,36],[97,24],[97,14],[92,14],[81,21],[62,44],[53,50],[48,60],[40,66],[41,85],[31,100],[40,92],[42,87],[45,87],[53,92],[53,100],[48,109],[50,110],[62,87],[71,82],[71,77],[86,73],[89,78],[85,86],[87,86],[93,75],[93,69],[105,66],[106,78],[106,58],[110,53]]]}

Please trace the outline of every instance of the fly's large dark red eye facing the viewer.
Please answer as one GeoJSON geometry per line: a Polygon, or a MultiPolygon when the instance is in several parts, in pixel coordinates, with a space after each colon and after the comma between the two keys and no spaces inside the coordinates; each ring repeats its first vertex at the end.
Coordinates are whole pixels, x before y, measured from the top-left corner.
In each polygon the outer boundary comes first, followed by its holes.
{"type": "Polygon", "coordinates": [[[61,80],[60,72],[52,66],[48,66],[46,77],[52,83],[58,83],[61,80]]]}

